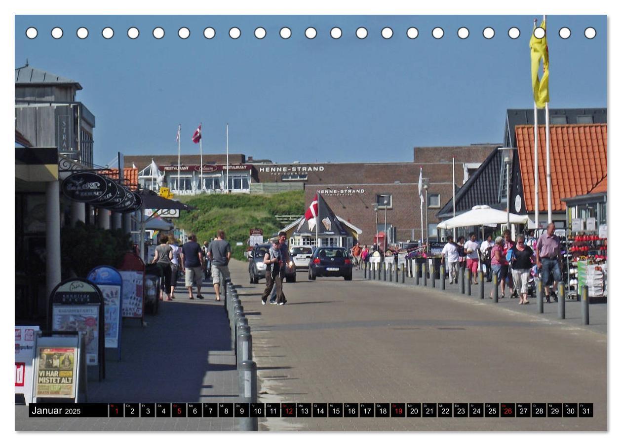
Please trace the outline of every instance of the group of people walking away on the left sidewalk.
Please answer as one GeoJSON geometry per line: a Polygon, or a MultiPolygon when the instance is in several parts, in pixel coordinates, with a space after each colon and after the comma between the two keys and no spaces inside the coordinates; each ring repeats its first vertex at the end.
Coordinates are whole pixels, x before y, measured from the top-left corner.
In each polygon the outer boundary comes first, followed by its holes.
{"type": "MultiPolygon", "coordinates": [[[[160,300],[164,300],[164,294],[167,301],[175,299],[175,286],[177,286],[180,272],[185,277],[189,298],[194,299],[193,286],[196,286],[197,299],[203,299],[201,294],[203,275],[206,265],[211,263],[211,277],[216,301],[220,301],[220,283],[230,276],[228,268],[230,259],[231,246],[225,240],[223,230],[218,230],[216,238],[205,248],[197,243],[195,234],[189,234],[188,241],[181,246],[179,240],[175,240],[174,237],[161,235],[151,262],[159,265],[162,270],[160,300]]],[[[207,278],[207,273],[205,276],[207,278]]]]}

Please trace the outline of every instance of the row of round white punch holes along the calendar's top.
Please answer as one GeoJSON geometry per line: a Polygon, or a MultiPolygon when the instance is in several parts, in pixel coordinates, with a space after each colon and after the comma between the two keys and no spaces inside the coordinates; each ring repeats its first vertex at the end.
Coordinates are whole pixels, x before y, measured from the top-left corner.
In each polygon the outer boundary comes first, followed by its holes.
{"type": "MultiPolygon", "coordinates": [[[[63,37],[63,29],[60,27],[54,27],[52,28],[50,34],[52,35],[53,39],[60,39],[61,37],[63,37]]],[[[131,27],[128,29],[127,34],[129,39],[133,40],[139,37],[140,31],[137,27],[131,27]]],[[[155,39],[162,39],[162,37],[164,37],[165,35],[164,28],[156,27],[152,30],[151,34],[155,39]]],[[[361,40],[366,39],[366,37],[368,37],[369,35],[368,30],[365,27],[358,27],[355,34],[356,37],[361,40]]],[[[482,35],[485,39],[492,39],[494,37],[494,34],[494,28],[492,27],[486,27],[482,30],[482,35]]],[[[546,31],[541,27],[537,27],[536,29],[534,29],[533,34],[536,39],[542,39],[542,37],[546,35],[546,31]]],[[[561,27],[558,31],[558,34],[559,37],[565,40],[568,39],[570,37],[570,34],[572,33],[569,27],[561,27]]],[[[26,29],[26,37],[28,37],[28,39],[35,39],[37,35],[39,35],[39,31],[37,30],[37,28],[31,26],[26,29]]],[[[88,29],[86,29],[85,27],[80,27],[76,30],[76,35],[78,39],[86,39],[86,37],[88,37],[89,35],[88,29]]],[[[105,27],[101,30],[101,35],[104,39],[112,39],[114,36],[114,30],[111,27],[105,27]]],[[[187,27],[181,27],[179,30],[177,30],[177,35],[180,39],[188,39],[188,37],[190,37],[190,29],[188,29],[187,27]]],[[[229,30],[229,37],[231,37],[231,39],[238,39],[241,35],[242,32],[238,27],[232,27],[229,30]]],[[[256,39],[264,39],[264,37],[266,37],[267,35],[266,29],[263,27],[258,27],[255,29],[254,35],[256,39]]],[[[279,30],[279,35],[281,36],[281,39],[289,39],[290,37],[292,37],[292,30],[288,27],[282,27],[281,30],[279,30]]],[[[330,37],[332,37],[333,39],[340,39],[342,35],[343,31],[339,27],[333,27],[330,30],[330,37]]],[[[393,37],[393,29],[391,27],[384,27],[381,30],[380,35],[383,37],[383,39],[391,39],[391,37],[393,37]]],[[[434,29],[432,29],[432,37],[434,37],[434,39],[442,39],[444,35],[445,30],[443,30],[442,27],[435,27],[434,29]]],[[[460,39],[467,39],[470,35],[470,30],[467,27],[460,27],[457,31],[457,35],[460,39]]],[[[517,27],[511,27],[508,30],[508,37],[510,39],[518,39],[520,35],[521,30],[519,30],[517,27]]],[[[585,30],[583,30],[583,35],[585,35],[587,39],[594,39],[594,37],[596,37],[596,29],[594,29],[593,27],[587,27],[585,30]]],[[[406,30],[406,36],[409,39],[417,39],[417,37],[419,36],[419,30],[415,27],[410,27],[406,30]]],[[[203,37],[205,37],[205,39],[213,39],[214,37],[216,37],[216,30],[212,27],[205,28],[203,30],[203,37]]],[[[305,37],[307,37],[307,39],[315,39],[315,37],[317,37],[317,30],[313,27],[308,27],[307,29],[305,29],[305,37]]]]}

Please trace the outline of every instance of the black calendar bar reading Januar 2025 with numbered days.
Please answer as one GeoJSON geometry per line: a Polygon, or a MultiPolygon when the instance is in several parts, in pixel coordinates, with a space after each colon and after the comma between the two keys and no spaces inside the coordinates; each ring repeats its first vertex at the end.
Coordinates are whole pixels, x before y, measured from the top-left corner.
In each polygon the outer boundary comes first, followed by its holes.
{"type": "Polygon", "coordinates": [[[593,403],[32,403],[29,417],[593,417],[593,403]]]}

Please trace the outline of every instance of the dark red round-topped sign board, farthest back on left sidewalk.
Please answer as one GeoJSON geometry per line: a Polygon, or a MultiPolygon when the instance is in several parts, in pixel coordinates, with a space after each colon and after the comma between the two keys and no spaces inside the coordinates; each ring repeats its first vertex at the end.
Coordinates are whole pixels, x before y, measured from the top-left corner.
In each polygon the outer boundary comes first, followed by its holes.
{"type": "Polygon", "coordinates": [[[119,273],[123,278],[123,294],[121,298],[122,315],[128,319],[141,319],[145,325],[145,263],[133,252],[126,253],[119,273]]]}

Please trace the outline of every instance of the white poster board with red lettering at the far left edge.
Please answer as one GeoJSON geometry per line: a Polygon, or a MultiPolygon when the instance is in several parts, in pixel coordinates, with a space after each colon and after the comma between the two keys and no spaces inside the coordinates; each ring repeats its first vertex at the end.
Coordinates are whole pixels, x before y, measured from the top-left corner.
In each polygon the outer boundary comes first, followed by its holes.
{"type": "Polygon", "coordinates": [[[23,395],[26,405],[32,401],[32,363],[35,357],[35,333],[39,325],[15,326],[15,394],[23,395]]]}

